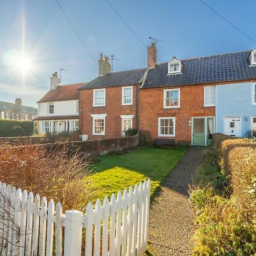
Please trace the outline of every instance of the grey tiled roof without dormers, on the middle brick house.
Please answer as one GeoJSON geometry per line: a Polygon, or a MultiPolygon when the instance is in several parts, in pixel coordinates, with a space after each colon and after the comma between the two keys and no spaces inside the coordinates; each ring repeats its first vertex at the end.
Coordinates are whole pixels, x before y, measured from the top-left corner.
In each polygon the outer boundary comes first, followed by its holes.
{"type": "Polygon", "coordinates": [[[119,85],[139,84],[147,68],[131,69],[106,73],[104,76],[98,76],[96,79],[88,82],[80,89],[105,88],[119,85]]]}

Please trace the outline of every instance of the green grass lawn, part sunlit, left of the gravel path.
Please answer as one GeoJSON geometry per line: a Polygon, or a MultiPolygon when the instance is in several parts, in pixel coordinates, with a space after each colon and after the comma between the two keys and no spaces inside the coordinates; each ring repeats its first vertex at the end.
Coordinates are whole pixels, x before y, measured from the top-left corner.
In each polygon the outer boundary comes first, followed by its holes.
{"type": "Polygon", "coordinates": [[[151,195],[154,196],[160,184],[179,162],[187,148],[142,147],[123,155],[104,155],[100,162],[91,166],[92,196],[94,203],[98,198],[123,191],[140,181],[151,179],[151,195]]]}

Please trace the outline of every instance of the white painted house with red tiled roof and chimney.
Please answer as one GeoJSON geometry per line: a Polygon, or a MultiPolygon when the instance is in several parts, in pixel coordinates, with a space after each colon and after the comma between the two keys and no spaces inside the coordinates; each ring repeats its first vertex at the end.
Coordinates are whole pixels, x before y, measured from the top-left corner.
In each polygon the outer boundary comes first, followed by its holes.
{"type": "Polygon", "coordinates": [[[38,101],[37,133],[72,133],[79,130],[79,88],[86,84],[60,85],[57,72],[52,74],[50,90],[38,101]]]}

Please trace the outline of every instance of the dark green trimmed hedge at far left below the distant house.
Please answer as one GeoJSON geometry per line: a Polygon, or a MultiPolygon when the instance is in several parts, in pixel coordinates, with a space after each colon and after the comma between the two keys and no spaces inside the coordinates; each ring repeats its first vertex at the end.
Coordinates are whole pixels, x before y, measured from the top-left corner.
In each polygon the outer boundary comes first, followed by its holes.
{"type": "Polygon", "coordinates": [[[0,119],[0,137],[28,136],[33,131],[32,121],[0,119]]]}

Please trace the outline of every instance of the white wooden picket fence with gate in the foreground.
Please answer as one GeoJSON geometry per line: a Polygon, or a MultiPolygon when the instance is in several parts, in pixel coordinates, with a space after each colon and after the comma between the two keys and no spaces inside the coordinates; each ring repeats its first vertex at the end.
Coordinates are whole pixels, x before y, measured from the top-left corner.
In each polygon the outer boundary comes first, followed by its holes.
{"type": "Polygon", "coordinates": [[[149,179],[89,203],[86,214],[0,183],[0,255],[80,256],[82,247],[86,256],[142,255],[149,207],[149,179]]]}

